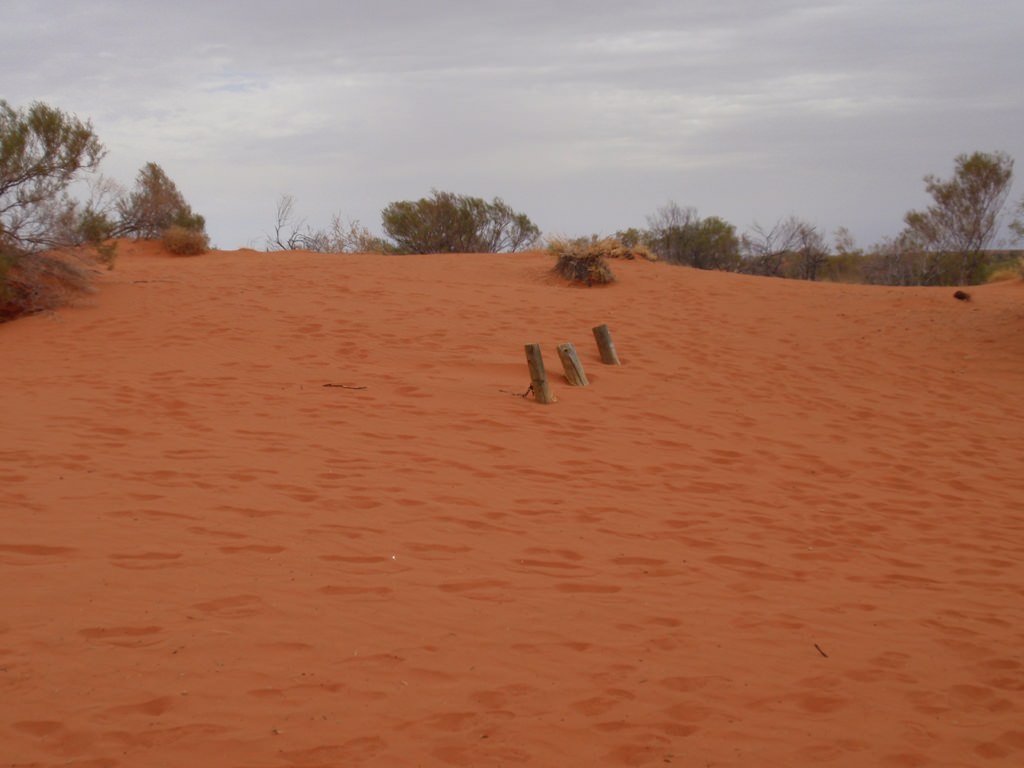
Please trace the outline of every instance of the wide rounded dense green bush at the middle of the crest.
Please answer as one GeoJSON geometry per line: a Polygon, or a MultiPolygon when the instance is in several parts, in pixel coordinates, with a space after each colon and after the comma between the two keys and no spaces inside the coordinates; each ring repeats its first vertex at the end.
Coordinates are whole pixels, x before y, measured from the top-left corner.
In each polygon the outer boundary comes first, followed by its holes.
{"type": "Polygon", "coordinates": [[[434,189],[431,197],[391,203],[384,232],[399,253],[498,253],[532,245],[541,230],[500,198],[490,203],[434,189]]]}

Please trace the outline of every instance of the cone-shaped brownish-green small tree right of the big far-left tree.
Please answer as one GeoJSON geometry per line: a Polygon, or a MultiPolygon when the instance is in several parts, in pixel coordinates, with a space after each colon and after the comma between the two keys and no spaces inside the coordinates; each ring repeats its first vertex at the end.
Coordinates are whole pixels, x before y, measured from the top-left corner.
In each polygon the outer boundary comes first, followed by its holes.
{"type": "Polygon", "coordinates": [[[118,234],[157,240],[171,226],[203,232],[206,219],[194,213],[177,185],[156,163],[146,163],[135,177],[135,188],[118,201],[118,234]]]}

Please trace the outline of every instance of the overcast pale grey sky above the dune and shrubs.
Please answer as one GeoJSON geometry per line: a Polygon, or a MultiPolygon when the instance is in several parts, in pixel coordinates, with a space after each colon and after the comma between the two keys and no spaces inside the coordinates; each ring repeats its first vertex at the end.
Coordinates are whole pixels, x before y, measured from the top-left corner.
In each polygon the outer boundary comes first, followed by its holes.
{"type": "MultiPolygon", "coordinates": [[[[923,178],[1004,151],[1024,178],[1019,0],[0,0],[0,98],[89,119],[104,175],[158,163],[216,247],[278,202],[380,232],[432,189],[548,236],[670,201],[860,246],[923,178]]],[[[1012,201],[1024,196],[1018,181],[1012,201]]]]}

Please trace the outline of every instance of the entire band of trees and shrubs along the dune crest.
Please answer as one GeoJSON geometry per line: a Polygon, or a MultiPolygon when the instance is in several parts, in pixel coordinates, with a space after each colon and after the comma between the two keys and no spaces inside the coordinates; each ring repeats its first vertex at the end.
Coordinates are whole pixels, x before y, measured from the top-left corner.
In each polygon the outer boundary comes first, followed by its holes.
{"type": "MultiPolygon", "coordinates": [[[[113,266],[119,238],[160,240],[176,255],[208,250],[205,218],[163,168],[146,163],[126,189],[98,174],[104,155],[89,121],[42,102],[15,109],[0,99],[0,321],[88,290],[95,264],[113,266]]],[[[925,176],[931,205],[908,211],[898,234],[866,249],[845,228],[829,243],[797,216],[739,232],[721,217],[702,217],[672,201],[647,217],[646,227],[556,238],[546,247],[558,273],[588,285],[613,280],[606,259],[637,256],[807,281],[951,286],[1008,280],[1024,272],[1021,252],[996,243],[1004,223],[1014,240],[1024,240],[1024,200],[1008,205],[1013,171],[1013,158],[1002,152],[957,156],[948,178],[925,176]]],[[[314,228],[296,216],[286,195],[266,247],[382,254],[542,247],[537,224],[501,198],[437,189],[385,206],[381,227],[378,237],[336,215],[327,228],[314,228]]]]}

